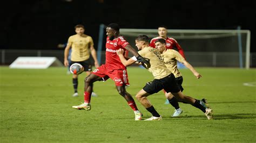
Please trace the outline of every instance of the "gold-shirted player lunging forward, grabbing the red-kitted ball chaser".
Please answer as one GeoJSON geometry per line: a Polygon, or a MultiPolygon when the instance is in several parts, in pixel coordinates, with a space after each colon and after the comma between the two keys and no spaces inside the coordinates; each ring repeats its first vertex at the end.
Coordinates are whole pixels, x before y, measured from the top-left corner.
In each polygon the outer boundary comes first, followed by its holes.
{"type": "MultiPolygon", "coordinates": [[[[147,70],[149,70],[154,76],[154,80],[151,83],[146,83],[145,87],[140,90],[136,95],[138,101],[146,108],[147,111],[152,114],[152,117],[146,120],[162,119],[162,117],[147,99],[147,96],[155,94],[162,89],[164,89],[166,92],[171,92],[172,95],[177,97],[180,101],[189,103],[200,109],[205,113],[207,119],[212,118],[212,110],[210,108],[205,108],[205,106],[200,104],[199,100],[194,99],[190,96],[186,96],[180,91],[180,86],[177,84],[173,73],[166,68],[159,50],[149,46],[149,37],[147,37],[146,35],[139,35],[136,39],[136,46],[139,49],[138,53],[144,58],[148,58],[150,60],[150,63],[145,64],[144,67],[147,68],[147,70]]],[[[123,53],[123,49],[119,49],[117,51],[117,54],[123,65],[129,66],[137,61],[135,56],[133,56],[129,60],[126,60],[123,53]]]]}

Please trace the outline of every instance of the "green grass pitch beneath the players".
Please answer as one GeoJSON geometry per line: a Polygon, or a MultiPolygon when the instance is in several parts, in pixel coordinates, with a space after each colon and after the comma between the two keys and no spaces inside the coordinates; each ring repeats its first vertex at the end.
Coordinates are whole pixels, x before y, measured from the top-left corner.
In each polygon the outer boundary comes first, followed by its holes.
{"type": "MultiPolygon", "coordinates": [[[[170,117],[163,92],[149,96],[163,120],[134,121],[133,111],[118,95],[113,81],[96,82],[91,111],[75,110],[83,102],[83,78],[79,96],[72,97],[71,75],[66,68],[9,69],[0,67],[0,142],[256,142],[256,70],[237,68],[197,68],[197,80],[181,69],[184,94],[207,98],[214,119],[180,103],[182,116],[170,117]],[[243,83],[254,82],[254,87],[243,83]]],[[[128,68],[134,97],[151,74],[142,68],[128,68]]],[[[135,98],[135,97],[134,97],[135,98]]],[[[136,100],[136,99],[135,99],[136,100]]],[[[151,117],[139,102],[144,114],[151,117]]]]}

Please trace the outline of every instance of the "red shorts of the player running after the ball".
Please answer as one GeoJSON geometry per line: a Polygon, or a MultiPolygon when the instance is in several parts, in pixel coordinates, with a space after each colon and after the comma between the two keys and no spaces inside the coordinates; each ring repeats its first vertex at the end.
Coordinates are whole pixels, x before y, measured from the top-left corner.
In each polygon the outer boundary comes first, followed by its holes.
{"type": "Polygon", "coordinates": [[[92,71],[92,74],[102,77],[104,81],[111,78],[117,86],[130,85],[126,69],[107,71],[106,65],[102,65],[92,71]]]}

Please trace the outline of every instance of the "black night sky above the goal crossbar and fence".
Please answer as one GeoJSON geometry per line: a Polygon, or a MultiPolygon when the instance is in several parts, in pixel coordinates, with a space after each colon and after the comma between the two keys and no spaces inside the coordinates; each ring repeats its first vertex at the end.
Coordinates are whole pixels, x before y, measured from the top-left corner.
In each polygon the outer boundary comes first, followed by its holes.
{"type": "MultiPolygon", "coordinates": [[[[251,30],[255,50],[255,1],[5,1],[1,4],[1,49],[58,49],[84,24],[97,49],[99,24],[121,28],[251,30]]],[[[171,33],[170,33],[171,35],[171,33]]],[[[185,50],[186,51],[186,50],[185,50]]]]}

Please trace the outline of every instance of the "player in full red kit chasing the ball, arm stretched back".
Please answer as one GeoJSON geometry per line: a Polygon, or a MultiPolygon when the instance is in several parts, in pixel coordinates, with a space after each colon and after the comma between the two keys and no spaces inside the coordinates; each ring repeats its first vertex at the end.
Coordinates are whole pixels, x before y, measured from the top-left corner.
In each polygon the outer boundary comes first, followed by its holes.
{"type": "Polygon", "coordinates": [[[105,81],[111,78],[115,84],[117,91],[122,95],[127,103],[131,106],[135,114],[135,120],[142,119],[142,113],[137,108],[136,103],[132,96],[126,91],[125,85],[129,85],[127,70],[123,63],[120,61],[117,55],[117,50],[122,48],[125,51],[131,52],[134,56],[137,56],[140,61],[147,63],[146,59],[138,54],[138,52],[131,47],[123,36],[119,35],[119,26],[116,23],[111,23],[106,27],[106,61],[105,64],[93,70],[92,74],[87,76],[84,80],[84,103],[77,106],[72,106],[75,109],[91,109],[91,93],[92,83],[96,81],[105,81]]]}

